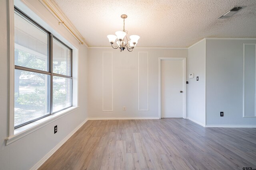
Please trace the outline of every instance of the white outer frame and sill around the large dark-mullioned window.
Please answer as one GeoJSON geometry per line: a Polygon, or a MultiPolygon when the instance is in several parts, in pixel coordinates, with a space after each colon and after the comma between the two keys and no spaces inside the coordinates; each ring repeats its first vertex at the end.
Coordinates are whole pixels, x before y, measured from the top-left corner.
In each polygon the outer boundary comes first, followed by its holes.
{"type": "Polygon", "coordinates": [[[8,92],[10,94],[9,96],[9,135],[6,137],[6,145],[9,145],[10,143],[13,143],[17,141],[18,139],[21,139],[22,137],[25,137],[26,135],[56,121],[57,119],[60,119],[61,117],[72,113],[76,110],[78,110],[78,49],[76,46],[74,46],[72,43],[67,41],[62,35],[60,35],[57,31],[55,31],[52,26],[50,26],[46,21],[42,20],[44,18],[42,14],[37,13],[36,9],[32,9],[29,4],[25,4],[24,1],[16,1],[15,5],[25,12],[28,16],[30,16],[33,20],[37,21],[45,27],[47,30],[49,30],[51,33],[54,33],[54,35],[60,39],[63,43],[68,45],[70,48],[73,49],[73,61],[72,61],[72,107],[69,107],[67,109],[64,109],[62,111],[59,111],[57,113],[54,113],[52,115],[49,115],[47,117],[44,117],[42,119],[39,119],[37,121],[34,121],[32,123],[29,123],[27,125],[24,125],[22,127],[19,127],[17,129],[14,129],[14,0],[8,1],[8,15],[9,15],[9,33],[8,33],[8,52],[9,52],[9,89],[8,92]],[[31,15],[32,16],[31,16],[31,15]],[[38,21],[40,20],[40,21],[38,21]],[[75,69],[74,69],[75,68],[75,69]]]}

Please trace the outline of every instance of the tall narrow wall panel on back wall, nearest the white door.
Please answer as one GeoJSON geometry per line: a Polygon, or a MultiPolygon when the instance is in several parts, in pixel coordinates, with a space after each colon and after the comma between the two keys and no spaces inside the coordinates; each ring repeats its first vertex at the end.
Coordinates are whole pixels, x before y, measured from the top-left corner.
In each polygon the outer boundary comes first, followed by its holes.
{"type": "Polygon", "coordinates": [[[138,54],[138,110],[149,110],[148,52],[138,54]]]}

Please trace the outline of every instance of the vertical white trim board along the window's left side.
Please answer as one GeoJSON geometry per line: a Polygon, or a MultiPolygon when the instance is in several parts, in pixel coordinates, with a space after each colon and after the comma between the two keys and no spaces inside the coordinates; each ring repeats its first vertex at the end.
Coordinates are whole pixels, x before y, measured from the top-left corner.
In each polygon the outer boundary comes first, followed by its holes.
{"type": "Polygon", "coordinates": [[[14,135],[14,1],[9,0],[9,136],[14,135]]]}

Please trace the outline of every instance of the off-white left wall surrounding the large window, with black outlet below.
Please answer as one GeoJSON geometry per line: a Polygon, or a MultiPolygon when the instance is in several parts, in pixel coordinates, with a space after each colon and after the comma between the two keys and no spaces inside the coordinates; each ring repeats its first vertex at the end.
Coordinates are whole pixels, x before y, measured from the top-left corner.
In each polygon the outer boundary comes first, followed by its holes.
{"type": "Polygon", "coordinates": [[[48,24],[64,39],[78,49],[78,94],[79,109],[60,119],[22,137],[18,141],[5,145],[8,137],[8,0],[0,0],[0,170],[28,170],[62,141],[70,132],[87,118],[87,48],[78,45],[78,41],[42,6],[41,2],[28,0],[36,9],[36,13],[44,16],[48,24]],[[54,126],[58,125],[58,133],[54,135],[54,126]]]}

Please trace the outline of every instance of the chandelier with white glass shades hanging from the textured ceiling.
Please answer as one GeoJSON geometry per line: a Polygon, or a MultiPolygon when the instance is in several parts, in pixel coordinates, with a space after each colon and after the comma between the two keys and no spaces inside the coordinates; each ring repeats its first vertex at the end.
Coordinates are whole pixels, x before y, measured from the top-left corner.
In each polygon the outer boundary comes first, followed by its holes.
{"type": "MultiPolygon", "coordinates": [[[[121,15],[121,18],[124,20],[127,18],[127,15],[123,14],[121,15]]],[[[116,31],[116,35],[108,35],[108,41],[110,42],[113,49],[120,49],[120,52],[124,51],[124,49],[127,49],[128,51],[132,51],[136,44],[138,43],[138,39],[140,39],[140,36],[138,35],[131,35],[130,40],[127,39],[126,35],[128,34],[128,31],[123,29],[123,31],[116,31]],[[114,42],[116,42],[117,46],[113,47],[114,42]]]]}

